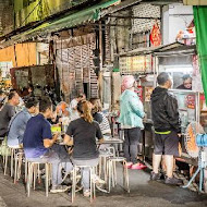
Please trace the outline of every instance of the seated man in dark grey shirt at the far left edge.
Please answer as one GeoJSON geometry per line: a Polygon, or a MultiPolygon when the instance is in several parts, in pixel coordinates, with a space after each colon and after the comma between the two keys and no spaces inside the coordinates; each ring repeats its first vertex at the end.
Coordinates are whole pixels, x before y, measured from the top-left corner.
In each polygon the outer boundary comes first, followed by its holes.
{"type": "Polygon", "coordinates": [[[15,114],[15,106],[20,104],[20,96],[12,90],[8,96],[8,102],[0,111],[0,137],[4,137],[8,133],[10,120],[15,114]]]}

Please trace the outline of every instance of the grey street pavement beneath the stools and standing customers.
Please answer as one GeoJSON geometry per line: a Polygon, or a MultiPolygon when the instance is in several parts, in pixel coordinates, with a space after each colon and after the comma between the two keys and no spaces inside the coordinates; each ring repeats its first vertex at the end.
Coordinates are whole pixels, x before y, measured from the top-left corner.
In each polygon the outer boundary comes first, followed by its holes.
{"type": "Polygon", "coordinates": [[[207,194],[149,181],[149,170],[130,170],[130,194],[122,188],[121,166],[118,178],[118,186],[110,194],[97,190],[96,200],[90,204],[88,198],[76,193],[72,204],[69,193],[46,197],[41,185],[31,191],[31,197],[26,197],[25,185],[21,181],[14,184],[13,179],[4,176],[0,170],[0,207],[207,207],[207,194]]]}

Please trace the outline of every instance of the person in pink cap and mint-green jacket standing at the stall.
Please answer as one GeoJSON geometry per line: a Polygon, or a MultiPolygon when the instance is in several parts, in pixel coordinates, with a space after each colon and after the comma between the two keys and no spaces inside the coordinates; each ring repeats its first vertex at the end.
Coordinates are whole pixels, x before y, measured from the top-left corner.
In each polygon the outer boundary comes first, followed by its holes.
{"type": "Polygon", "coordinates": [[[142,169],[137,161],[137,146],[141,138],[141,130],[144,129],[143,118],[145,117],[143,104],[134,92],[136,81],[134,76],[127,75],[123,78],[123,94],[120,97],[119,122],[124,129],[124,157],[127,168],[142,169]]]}

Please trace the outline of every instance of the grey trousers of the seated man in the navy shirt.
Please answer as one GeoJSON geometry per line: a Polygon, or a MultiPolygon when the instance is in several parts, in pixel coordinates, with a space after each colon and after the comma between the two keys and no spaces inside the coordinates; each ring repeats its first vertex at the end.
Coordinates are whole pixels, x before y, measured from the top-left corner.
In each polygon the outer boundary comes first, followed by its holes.
{"type": "Polygon", "coordinates": [[[59,155],[50,149],[47,154],[39,158],[29,158],[28,161],[36,161],[36,162],[49,162],[52,165],[52,186],[60,185],[62,183],[62,173],[61,170],[64,168],[66,172],[70,172],[73,169],[73,166],[69,160],[61,160],[59,155]]]}

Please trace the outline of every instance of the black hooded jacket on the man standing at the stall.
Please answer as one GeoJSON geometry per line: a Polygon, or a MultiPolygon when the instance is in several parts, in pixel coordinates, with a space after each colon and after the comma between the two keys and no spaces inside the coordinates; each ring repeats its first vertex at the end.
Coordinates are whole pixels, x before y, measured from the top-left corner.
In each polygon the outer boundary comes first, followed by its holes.
{"type": "Polygon", "coordinates": [[[176,99],[168,89],[156,87],[151,94],[151,115],[154,127],[157,132],[181,132],[179,108],[176,99]]]}

